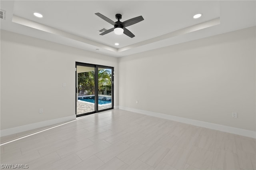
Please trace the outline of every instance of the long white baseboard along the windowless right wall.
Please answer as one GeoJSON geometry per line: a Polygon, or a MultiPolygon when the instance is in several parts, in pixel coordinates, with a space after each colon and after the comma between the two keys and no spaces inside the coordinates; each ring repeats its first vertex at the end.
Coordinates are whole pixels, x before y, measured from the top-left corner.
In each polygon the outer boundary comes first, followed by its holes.
{"type": "Polygon", "coordinates": [[[177,116],[166,115],[166,114],[162,114],[162,113],[156,113],[156,112],[150,112],[150,111],[145,111],[145,110],[140,110],[140,109],[134,109],[134,108],[130,108],[130,107],[118,106],[118,108],[121,109],[121,110],[140,113],[140,114],[143,114],[143,115],[159,117],[159,118],[162,118],[162,119],[168,119],[168,120],[171,120],[171,121],[177,121],[177,122],[181,122],[181,123],[187,123],[187,124],[195,125],[195,126],[198,126],[198,127],[205,127],[205,128],[210,128],[210,129],[214,129],[214,130],[220,130],[220,131],[223,131],[223,132],[228,132],[228,133],[238,134],[238,135],[242,135],[242,136],[247,136],[247,137],[250,137],[250,138],[256,138],[256,132],[252,131],[252,130],[245,130],[245,129],[242,129],[242,128],[228,127],[228,126],[224,126],[224,125],[218,125],[218,124],[214,124],[214,123],[197,121],[197,120],[187,119],[187,118],[183,118],[183,117],[177,117],[177,116]]]}

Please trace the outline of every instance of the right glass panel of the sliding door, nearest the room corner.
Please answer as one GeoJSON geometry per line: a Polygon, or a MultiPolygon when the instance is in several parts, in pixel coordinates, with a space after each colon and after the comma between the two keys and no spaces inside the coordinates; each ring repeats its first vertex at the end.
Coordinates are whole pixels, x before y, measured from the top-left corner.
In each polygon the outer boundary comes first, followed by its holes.
{"type": "Polygon", "coordinates": [[[113,69],[98,68],[98,111],[113,107],[112,84],[113,69]]]}

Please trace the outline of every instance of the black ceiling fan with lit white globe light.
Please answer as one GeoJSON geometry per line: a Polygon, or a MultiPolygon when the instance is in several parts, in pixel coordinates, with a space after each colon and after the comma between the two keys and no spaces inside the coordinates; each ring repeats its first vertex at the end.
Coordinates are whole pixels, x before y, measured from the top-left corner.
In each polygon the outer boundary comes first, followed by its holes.
{"type": "Polygon", "coordinates": [[[144,18],[142,16],[137,16],[137,17],[132,18],[130,20],[126,20],[124,22],[121,22],[120,20],[122,19],[122,15],[121,14],[116,14],[116,19],[118,21],[114,22],[114,21],[110,20],[109,18],[107,18],[106,16],[104,16],[100,13],[95,13],[95,14],[96,14],[96,16],[102,18],[103,20],[105,20],[106,22],[108,22],[108,23],[110,23],[114,26],[114,28],[111,28],[109,30],[106,30],[105,32],[102,32],[100,34],[101,36],[114,31],[114,33],[117,34],[117,35],[121,35],[121,34],[124,33],[126,36],[129,36],[130,38],[133,38],[133,37],[135,37],[134,34],[132,34],[132,32],[127,30],[125,27],[131,26],[133,24],[136,24],[136,23],[141,22],[141,21],[144,20],[144,18]]]}

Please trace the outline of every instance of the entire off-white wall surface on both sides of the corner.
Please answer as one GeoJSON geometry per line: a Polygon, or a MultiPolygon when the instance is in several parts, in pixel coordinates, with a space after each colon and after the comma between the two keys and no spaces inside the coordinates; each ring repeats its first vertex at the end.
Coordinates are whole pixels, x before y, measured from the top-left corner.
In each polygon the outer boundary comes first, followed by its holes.
{"type": "Polygon", "coordinates": [[[79,61],[114,67],[115,106],[256,131],[255,31],[117,59],[1,30],[1,130],[74,115],[79,61]]]}

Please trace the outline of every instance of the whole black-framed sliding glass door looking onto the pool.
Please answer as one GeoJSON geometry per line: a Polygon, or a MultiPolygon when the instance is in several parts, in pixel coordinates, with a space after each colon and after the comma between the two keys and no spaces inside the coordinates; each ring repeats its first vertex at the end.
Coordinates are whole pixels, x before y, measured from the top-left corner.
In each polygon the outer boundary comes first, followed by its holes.
{"type": "Polygon", "coordinates": [[[76,116],[114,108],[113,67],[76,62],[76,116]]]}

